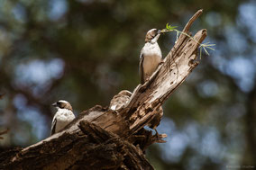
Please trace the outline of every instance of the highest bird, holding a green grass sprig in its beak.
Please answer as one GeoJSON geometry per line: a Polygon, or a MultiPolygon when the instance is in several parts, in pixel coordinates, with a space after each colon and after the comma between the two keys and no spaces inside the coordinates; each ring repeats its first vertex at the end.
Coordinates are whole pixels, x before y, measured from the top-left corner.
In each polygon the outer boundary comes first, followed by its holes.
{"type": "Polygon", "coordinates": [[[160,30],[151,29],[146,34],[145,45],[140,56],[140,76],[143,85],[154,73],[162,62],[161,51],[157,40],[160,38],[160,30]]]}

